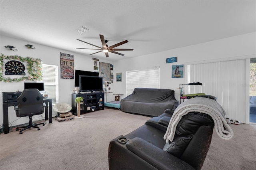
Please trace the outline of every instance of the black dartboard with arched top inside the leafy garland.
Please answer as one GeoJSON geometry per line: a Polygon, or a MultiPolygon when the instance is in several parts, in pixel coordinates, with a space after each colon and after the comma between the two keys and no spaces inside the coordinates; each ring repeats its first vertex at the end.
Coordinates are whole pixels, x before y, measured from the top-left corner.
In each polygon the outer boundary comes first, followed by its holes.
{"type": "Polygon", "coordinates": [[[25,75],[25,66],[20,61],[7,61],[4,65],[6,75],[25,75]]]}

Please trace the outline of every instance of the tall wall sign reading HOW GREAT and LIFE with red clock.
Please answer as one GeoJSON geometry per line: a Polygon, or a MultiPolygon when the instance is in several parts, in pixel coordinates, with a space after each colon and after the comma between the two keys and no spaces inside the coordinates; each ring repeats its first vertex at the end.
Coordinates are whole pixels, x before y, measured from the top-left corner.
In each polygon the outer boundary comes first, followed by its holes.
{"type": "Polygon", "coordinates": [[[74,79],[74,55],[60,53],[60,78],[74,79]]]}

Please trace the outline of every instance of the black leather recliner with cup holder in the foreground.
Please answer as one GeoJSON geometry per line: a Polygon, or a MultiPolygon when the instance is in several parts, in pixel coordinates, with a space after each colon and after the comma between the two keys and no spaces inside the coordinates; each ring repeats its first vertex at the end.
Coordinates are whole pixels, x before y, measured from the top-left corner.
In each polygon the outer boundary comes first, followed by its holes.
{"type": "Polygon", "coordinates": [[[110,170],[201,169],[210,147],[214,121],[204,113],[190,112],[179,121],[174,140],[163,136],[172,117],[167,110],[145,125],[110,141],[110,170]]]}

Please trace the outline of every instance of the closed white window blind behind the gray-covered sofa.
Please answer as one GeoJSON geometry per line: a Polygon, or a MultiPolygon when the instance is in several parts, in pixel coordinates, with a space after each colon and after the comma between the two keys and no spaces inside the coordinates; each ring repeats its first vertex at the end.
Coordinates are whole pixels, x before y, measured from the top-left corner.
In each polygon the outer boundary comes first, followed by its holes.
{"type": "Polygon", "coordinates": [[[149,69],[126,71],[126,95],[130,95],[134,88],[156,88],[159,89],[160,67],[149,69]]]}

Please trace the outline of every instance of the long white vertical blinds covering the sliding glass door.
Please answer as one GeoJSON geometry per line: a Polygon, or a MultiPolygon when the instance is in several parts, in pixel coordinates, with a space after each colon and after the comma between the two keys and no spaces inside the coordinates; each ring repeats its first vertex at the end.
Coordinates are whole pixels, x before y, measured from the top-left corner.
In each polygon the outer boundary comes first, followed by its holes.
{"type": "Polygon", "coordinates": [[[202,83],[202,93],[217,97],[226,117],[248,123],[249,67],[250,59],[187,65],[187,83],[202,83]]]}

